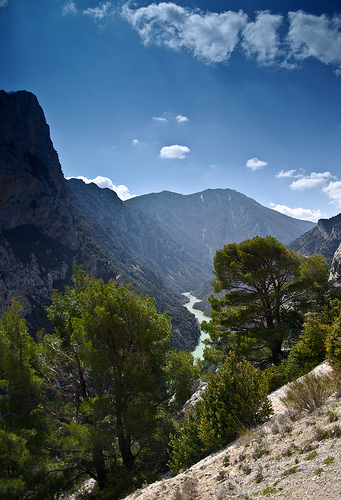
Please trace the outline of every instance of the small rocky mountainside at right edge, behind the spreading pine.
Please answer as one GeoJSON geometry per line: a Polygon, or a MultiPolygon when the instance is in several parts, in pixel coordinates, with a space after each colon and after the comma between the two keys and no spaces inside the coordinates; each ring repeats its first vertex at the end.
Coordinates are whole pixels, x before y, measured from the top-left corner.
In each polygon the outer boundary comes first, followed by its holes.
{"type": "Polygon", "coordinates": [[[341,214],[330,219],[320,219],[316,226],[292,241],[288,247],[304,256],[319,253],[331,265],[334,253],[341,242],[341,214]]]}

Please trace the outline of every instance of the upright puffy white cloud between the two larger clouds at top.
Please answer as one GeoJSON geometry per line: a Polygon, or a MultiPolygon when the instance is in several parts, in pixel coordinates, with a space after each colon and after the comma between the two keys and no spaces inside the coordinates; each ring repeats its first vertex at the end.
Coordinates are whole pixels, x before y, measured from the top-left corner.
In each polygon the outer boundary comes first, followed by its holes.
{"type": "Polygon", "coordinates": [[[249,57],[256,56],[260,64],[271,64],[280,53],[277,33],[283,22],[280,15],[268,11],[258,12],[255,22],[246,25],[243,31],[243,48],[249,57]]]}

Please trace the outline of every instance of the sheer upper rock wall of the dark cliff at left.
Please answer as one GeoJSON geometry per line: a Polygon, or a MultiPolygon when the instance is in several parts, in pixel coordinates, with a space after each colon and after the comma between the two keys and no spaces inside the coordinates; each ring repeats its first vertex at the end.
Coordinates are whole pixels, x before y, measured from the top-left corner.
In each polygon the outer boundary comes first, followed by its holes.
{"type": "Polygon", "coordinates": [[[70,196],[37,98],[0,91],[1,229],[34,224],[67,246],[79,246],[70,196]]]}

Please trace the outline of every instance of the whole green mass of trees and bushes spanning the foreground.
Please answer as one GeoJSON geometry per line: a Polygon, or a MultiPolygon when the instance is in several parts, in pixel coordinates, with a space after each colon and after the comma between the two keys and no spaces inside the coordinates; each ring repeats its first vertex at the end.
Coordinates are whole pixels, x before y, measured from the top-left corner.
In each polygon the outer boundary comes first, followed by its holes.
{"type": "MultiPolygon", "coordinates": [[[[257,237],[226,245],[214,265],[211,340],[196,365],[170,347],[170,319],[153,299],[81,268],[47,308],[53,333],[36,341],[13,299],[0,321],[1,498],[52,499],[86,478],[96,498],[119,498],[245,435],[271,415],[270,390],[325,359],[334,374],[293,382],[286,404],[313,411],[341,390],[341,301],[321,256],[257,237]],[[208,386],[184,417],[199,370],[208,386]]],[[[316,429],[317,440],[340,435],[316,429]]]]}

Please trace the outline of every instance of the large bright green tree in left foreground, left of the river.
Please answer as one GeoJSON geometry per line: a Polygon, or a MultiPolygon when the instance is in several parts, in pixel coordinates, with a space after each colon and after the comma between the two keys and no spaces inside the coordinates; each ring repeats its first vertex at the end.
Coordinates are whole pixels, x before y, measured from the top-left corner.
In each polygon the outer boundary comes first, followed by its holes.
{"type": "MultiPolygon", "coordinates": [[[[89,278],[82,269],[74,284],[56,292],[48,308],[54,334],[41,332],[34,343],[18,323],[27,342],[22,355],[17,342],[15,360],[4,366],[6,397],[20,401],[26,384],[27,414],[35,422],[45,418],[41,446],[50,459],[58,457],[58,473],[70,483],[93,477],[101,489],[110,485],[116,498],[139,471],[146,472],[144,458],[148,468],[160,467],[160,443],[165,465],[161,430],[171,427],[168,402],[177,393],[185,397],[181,380],[183,372],[194,379],[193,357],[169,347],[170,320],[156,313],[153,299],[89,278]],[[175,373],[169,363],[177,366],[175,373]]],[[[17,312],[11,313],[14,325],[17,312]]],[[[2,347],[3,359],[14,352],[6,332],[2,347]]]]}

